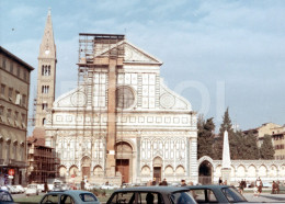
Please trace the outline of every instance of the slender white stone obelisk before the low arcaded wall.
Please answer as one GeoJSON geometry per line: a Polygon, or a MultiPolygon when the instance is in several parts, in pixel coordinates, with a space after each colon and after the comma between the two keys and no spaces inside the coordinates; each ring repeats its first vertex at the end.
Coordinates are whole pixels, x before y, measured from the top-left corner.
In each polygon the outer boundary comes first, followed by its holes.
{"type": "Polygon", "coordinates": [[[229,138],[227,129],[224,133],[223,161],[221,161],[221,179],[225,184],[230,184],[230,152],[229,138]]]}

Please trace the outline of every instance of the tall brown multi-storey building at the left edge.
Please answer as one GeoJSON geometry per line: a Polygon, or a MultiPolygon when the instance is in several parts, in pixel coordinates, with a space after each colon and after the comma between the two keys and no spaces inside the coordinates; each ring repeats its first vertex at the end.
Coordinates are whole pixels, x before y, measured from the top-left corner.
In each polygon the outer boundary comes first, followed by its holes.
{"type": "MultiPolygon", "coordinates": [[[[26,126],[32,66],[0,46],[0,181],[25,183],[26,126]],[[8,179],[13,169],[14,175],[8,179]]],[[[0,183],[3,184],[3,183],[0,183]]]]}

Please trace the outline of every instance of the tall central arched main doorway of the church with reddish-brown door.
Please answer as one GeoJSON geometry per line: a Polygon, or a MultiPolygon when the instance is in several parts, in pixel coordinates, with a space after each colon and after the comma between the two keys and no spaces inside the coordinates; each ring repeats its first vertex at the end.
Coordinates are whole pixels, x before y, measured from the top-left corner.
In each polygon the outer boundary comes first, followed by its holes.
{"type": "Polygon", "coordinates": [[[116,171],[122,174],[122,182],[129,183],[133,178],[133,148],[126,141],[116,144],[116,171]]]}

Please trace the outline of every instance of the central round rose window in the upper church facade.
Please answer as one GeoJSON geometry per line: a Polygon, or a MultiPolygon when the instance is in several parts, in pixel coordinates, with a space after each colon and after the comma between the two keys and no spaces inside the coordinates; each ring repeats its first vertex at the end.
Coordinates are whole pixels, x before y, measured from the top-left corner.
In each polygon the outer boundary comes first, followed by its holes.
{"type": "Polygon", "coordinates": [[[134,91],[129,87],[121,87],[116,92],[117,99],[117,107],[119,109],[128,109],[135,102],[134,91]]]}

